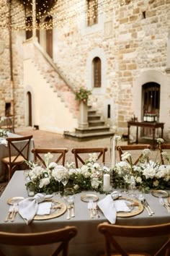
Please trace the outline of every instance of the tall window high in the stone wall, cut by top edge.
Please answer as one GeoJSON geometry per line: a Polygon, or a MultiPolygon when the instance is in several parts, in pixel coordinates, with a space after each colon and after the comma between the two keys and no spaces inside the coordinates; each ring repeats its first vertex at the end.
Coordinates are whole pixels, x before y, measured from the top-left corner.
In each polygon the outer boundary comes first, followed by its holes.
{"type": "Polygon", "coordinates": [[[98,0],[87,0],[87,25],[97,24],[98,0]]]}

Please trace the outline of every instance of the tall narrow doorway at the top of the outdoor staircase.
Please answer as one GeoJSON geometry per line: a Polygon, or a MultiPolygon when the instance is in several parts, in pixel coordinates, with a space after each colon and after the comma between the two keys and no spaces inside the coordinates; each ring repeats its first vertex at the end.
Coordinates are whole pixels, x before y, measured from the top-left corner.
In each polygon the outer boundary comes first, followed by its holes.
{"type": "Polygon", "coordinates": [[[53,17],[45,18],[46,52],[53,59],[53,17]]]}

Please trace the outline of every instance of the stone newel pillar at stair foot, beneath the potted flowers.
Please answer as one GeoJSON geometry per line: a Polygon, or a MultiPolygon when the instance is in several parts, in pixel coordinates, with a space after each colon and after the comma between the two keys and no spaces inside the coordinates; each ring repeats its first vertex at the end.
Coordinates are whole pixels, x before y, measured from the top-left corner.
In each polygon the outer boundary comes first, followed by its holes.
{"type": "Polygon", "coordinates": [[[87,108],[87,104],[84,103],[84,101],[81,101],[79,105],[79,128],[86,129],[89,127],[87,121],[87,108]]]}

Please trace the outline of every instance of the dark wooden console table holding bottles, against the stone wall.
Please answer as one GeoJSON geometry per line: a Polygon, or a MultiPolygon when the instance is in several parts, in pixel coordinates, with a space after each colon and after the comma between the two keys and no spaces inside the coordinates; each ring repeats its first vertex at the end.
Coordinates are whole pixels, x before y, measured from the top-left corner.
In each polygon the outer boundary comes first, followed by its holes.
{"type": "Polygon", "coordinates": [[[138,127],[151,128],[153,132],[152,137],[152,149],[155,149],[155,132],[156,129],[161,128],[161,138],[164,135],[164,123],[158,123],[153,121],[128,121],[128,144],[130,144],[130,127],[136,127],[136,140],[135,144],[138,144],[138,127]]]}

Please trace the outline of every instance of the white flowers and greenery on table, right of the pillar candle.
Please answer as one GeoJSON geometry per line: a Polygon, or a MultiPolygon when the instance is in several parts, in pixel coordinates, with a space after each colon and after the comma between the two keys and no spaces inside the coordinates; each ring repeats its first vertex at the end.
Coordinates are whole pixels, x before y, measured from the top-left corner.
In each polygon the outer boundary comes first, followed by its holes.
{"type": "MultiPolygon", "coordinates": [[[[164,142],[163,139],[157,139],[158,144],[164,142]]],[[[143,150],[142,156],[138,165],[133,165],[130,153],[122,154],[122,161],[115,165],[113,171],[114,187],[123,186],[125,183],[135,184],[136,187],[148,192],[150,189],[166,189],[170,186],[170,158],[167,153],[161,155],[168,161],[167,165],[162,165],[161,161],[151,161],[151,150],[143,150]]]]}

